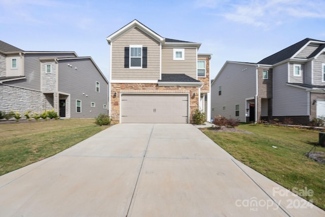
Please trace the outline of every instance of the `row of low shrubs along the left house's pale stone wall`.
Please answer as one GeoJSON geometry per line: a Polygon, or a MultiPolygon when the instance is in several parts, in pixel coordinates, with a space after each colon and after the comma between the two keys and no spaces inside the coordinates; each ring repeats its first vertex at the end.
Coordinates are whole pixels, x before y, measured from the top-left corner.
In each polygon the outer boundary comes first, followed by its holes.
{"type": "Polygon", "coordinates": [[[19,113],[18,111],[14,112],[13,110],[11,110],[10,112],[4,112],[4,111],[0,111],[0,119],[6,119],[9,120],[10,118],[15,118],[16,121],[19,121],[20,118],[22,117],[26,117],[27,120],[30,120],[30,118],[34,118],[36,120],[43,118],[55,118],[57,119],[59,116],[57,115],[57,112],[54,111],[54,109],[52,110],[44,110],[42,113],[38,113],[38,112],[32,112],[32,111],[26,111],[26,112],[22,112],[19,113]]]}

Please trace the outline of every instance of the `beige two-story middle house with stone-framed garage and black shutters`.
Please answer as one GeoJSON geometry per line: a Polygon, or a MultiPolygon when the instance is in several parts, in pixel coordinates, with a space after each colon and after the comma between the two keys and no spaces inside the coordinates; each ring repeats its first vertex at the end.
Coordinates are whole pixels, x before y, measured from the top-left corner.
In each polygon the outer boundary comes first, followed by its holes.
{"type": "Polygon", "coordinates": [[[189,123],[200,109],[210,120],[210,58],[201,43],[163,38],[134,20],[110,45],[110,115],[122,123],[189,123]]]}

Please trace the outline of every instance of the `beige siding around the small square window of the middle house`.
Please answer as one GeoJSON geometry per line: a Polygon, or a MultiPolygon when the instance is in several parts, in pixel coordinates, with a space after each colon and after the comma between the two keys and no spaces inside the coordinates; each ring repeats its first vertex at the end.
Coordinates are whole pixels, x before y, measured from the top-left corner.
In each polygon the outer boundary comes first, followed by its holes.
{"type": "Polygon", "coordinates": [[[184,52],[184,60],[173,60],[173,48],[163,47],[161,50],[161,73],[186,74],[197,79],[197,49],[185,48],[184,52]]]}

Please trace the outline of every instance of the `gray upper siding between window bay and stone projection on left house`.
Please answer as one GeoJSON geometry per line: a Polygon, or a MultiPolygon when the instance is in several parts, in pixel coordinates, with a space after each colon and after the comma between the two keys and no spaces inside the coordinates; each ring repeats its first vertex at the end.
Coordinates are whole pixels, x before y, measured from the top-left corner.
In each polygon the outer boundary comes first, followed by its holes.
{"type": "Polygon", "coordinates": [[[8,81],[6,84],[22,88],[41,90],[41,61],[40,58],[75,57],[67,53],[26,53],[24,54],[24,75],[26,79],[8,81]]]}

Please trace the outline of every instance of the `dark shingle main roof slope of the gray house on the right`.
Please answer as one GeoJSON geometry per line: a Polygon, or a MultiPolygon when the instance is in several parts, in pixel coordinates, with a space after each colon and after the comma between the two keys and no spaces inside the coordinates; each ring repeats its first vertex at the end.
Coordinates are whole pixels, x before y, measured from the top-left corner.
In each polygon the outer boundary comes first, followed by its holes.
{"type": "MultiPolygon", "coordinates": [[[[299,51],[309,41],[319,41],[319,40],[306,38],[300,42],[297,42],[296,44],[293,44],[287,48],[284,48],[283,50],[281,50],[275,54],[272,54],[271,56],[268,56],[268,57],[262,59],[257,64],[273,65],[276,63],[280,63],[281,61],[292,57],[297,51],[299,51]]],[[[323,42],[323,41],[319,41],[319,42],[323,42]]]]}

